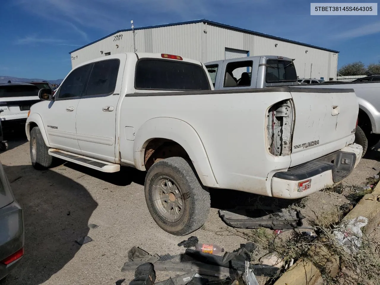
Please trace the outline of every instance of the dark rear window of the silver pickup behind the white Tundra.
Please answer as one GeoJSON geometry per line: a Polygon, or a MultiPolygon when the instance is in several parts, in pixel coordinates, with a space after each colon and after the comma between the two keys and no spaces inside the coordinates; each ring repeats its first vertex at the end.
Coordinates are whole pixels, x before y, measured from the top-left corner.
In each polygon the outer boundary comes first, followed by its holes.
{"type": "Polygon", "coordinates": [[[267,83],[296,82],[297,73],[294,63],[287,60],[269,59],[266,62],[267,83]]]}

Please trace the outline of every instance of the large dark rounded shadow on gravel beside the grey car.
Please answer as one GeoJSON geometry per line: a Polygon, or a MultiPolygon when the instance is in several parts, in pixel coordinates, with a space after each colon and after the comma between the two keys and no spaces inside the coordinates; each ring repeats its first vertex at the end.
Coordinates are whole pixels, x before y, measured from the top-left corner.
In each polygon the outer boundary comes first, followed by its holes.
{"type": "MultiPolygon", "coordinates": [[[[3,166],[24,209],[25,256],[5,285],[38,285],[60,271],[81,248],[98,204],[86,188],[51,170],[30,165],[3,166]]],[[[86,245],[83,245],[86,246],[86,245]]]]}

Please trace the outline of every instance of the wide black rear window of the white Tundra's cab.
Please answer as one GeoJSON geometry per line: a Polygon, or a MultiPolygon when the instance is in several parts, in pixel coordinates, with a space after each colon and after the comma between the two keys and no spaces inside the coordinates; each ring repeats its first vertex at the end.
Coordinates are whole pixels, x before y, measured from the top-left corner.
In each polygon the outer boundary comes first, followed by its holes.
{"type": "Polygon", "coordinates": [[[152,90],[210,90],[200,65],[159,59],[142,59],[137,63],[135,86],[152,90]]]}

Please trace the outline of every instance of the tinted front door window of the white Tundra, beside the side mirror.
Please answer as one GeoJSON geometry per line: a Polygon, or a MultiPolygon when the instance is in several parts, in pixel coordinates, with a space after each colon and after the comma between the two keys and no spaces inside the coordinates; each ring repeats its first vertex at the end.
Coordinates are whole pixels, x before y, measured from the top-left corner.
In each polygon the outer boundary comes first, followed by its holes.
{"type": "Polygon", "coordinates": [[[92,64],[88,64],[73,70],[60,85],[58,99],[81,97],[86,87],[91,67],[92,64]]]}

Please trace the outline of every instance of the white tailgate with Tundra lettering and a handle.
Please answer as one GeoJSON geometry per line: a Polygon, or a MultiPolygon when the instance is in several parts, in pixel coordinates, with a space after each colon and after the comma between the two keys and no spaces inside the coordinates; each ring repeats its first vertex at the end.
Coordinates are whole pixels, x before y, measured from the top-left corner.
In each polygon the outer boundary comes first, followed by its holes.
{"type": "Polygon", "coordinates": [[[292,90],[295,123],[291,165],[342,149],[355,140],[359,105],[352,89],[292,90]]]}

